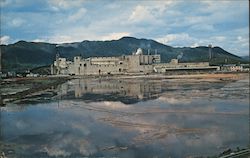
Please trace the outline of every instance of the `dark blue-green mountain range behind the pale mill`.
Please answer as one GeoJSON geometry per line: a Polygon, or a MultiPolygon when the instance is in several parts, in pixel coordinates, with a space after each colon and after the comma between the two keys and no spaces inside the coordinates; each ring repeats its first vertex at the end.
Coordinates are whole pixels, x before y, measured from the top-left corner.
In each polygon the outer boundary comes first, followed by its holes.
{"type": "Polygon", "coordinates": [[[50,65],[57,53],[72,60],[74,56],[84,58],[93,56],[128,55],[142,48],[145,54],[161,54],[162,62],[180,58],[180,62],[210,61],[211,65],[244,63],[246,60],[231,54],[220,47],[212,48],[212,59],[209,60],[209,48],[206,46],[171,47],[151,39],[122,37],[110,41],[82,41],[74,43],[51,44],[44,42],[19,41],[14,44],[1,45],[2,71],[25,71],[39,66],[50,65]]]}

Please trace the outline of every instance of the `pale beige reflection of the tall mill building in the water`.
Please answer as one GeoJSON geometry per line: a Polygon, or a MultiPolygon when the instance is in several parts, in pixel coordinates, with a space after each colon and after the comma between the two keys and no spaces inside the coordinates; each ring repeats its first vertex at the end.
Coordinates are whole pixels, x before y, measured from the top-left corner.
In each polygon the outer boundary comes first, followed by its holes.
{"type": "Polygon", "coordinates": [[[74,92],[74,98],[82,98],[91,94],[99,97],[110,95],[112,98],[150,99],[157,97],[162,91],[161,82],[148,82],[146,80],[77,79],[69,83],[62,85],[62,96],[71,95],[74,92]]]}

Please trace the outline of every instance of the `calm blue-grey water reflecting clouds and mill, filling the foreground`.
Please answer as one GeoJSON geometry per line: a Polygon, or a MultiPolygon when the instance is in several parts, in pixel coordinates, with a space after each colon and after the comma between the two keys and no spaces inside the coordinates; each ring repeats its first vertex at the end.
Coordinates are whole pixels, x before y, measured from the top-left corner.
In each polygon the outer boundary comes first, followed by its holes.
{"type": "Polygon", "coordinates": [[[249,143],[249,81],[76,79],[1,108],[8,157],[195,157],[249,143]]]}

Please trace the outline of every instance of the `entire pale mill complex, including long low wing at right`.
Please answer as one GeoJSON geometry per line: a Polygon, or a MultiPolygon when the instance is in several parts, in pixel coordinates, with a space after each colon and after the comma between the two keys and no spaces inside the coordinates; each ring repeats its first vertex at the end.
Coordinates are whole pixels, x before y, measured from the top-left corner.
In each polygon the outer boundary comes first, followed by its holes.
{"type": "Polygon", "coordinates": [[[143,54],[138,48],[132,55],[119,57],[74,57],[73,61],[56,57],[51,65],[53,75],[106,75],[132,73],[165,73],[170,71],[215,71],[218,66],[210,66],[209,62],[179,63],[172,59],[169,63],[161,63],[159,54],[143,54]]]}

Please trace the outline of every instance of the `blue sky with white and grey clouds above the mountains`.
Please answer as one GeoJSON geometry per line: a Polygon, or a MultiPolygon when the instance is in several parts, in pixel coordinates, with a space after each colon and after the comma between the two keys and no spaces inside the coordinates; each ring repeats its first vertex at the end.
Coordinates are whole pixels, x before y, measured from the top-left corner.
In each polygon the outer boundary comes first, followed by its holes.
{"type": "Polygon", "coordinates": [[[248,0],[0,0],[1,44],[153,39],[249,55],[248,0]]]}

